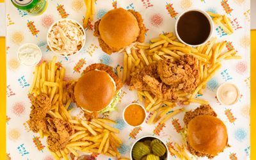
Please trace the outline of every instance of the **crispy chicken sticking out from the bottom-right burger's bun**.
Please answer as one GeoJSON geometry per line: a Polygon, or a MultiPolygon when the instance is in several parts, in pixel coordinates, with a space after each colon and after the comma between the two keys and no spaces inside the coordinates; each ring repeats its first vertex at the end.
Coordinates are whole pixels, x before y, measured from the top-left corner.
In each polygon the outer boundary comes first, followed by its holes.
{"type": "MultiPolygon", "coordinates": [[[[200,106],[200,108],[196,108],[194,111],[188,111],[186,112],[186,114],[184,115],[184,118],[183,118],[183,122],[184,124],[187,126],[189,124],[189,122],[195,118],[196,116],[199,116],[199,115],[211,115],[211,116],[217,116],[217,114],[214,112],[214,110],[211,108],[211,106],[209,105],[202,105],[200,106]]],[[[187,141],[187,149],[188,151],[193,154],[193,155],[196,155],[198,157],[208,157],[209,159],[212,159],[214,156],[212,156],[211,154],[204,154],[202,152],[198,152],[196,151],[195,149],[193,149],[189,143],[188,143],[188,140],[187,141]]]]}

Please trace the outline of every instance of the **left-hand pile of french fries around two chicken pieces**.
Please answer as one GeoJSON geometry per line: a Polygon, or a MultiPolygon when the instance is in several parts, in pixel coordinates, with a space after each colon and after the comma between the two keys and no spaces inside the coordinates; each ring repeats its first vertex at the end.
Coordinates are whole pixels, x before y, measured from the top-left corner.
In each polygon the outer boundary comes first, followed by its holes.
{"type": "MultiPolygon", "coordinates": [[[[52,118],[61,118],[72,124],[75,133],[70,136],[66,148],[58,152],[52,152],[55,159],[68,159],[68,154],[72,153],[79,157],[78,151],[86,153],[99,153],[111,157],[120,157],[117,148],[122,141],[116,136],[118,129],[107,124],[116,124],[113,120],[107,118],[96,118],[90,121],[79,120],[72,117],[68,110],[71,102],[74,102],[72,96],[67,92],[67,85],[76,84],[75,80],[64,81],[65,68],[56,66],[56,56],[51,61],[42,62],[35,67],[33,83],[29,93],[34,95],[46,93],[51,99],[51,110],[48,115],[52,118]]],[[[39,131],[40,137],[48,136],[42,130],[39,131]]]]}

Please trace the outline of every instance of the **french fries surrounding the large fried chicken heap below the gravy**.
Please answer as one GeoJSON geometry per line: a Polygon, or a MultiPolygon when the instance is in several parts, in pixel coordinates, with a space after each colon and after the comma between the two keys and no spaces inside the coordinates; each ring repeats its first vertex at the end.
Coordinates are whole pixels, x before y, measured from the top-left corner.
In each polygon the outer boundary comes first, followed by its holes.
{"type": "MultiPolygon", "coordinates": [[[[129,83],[131,76],[135,72],[138,72],[138,70],[141,70],[150,63],[155,63],[159,60],[177,61],[180,56],[189,54],[198,59],[200,83],[192,93],[179,92],[178,101],[184,105],[188,105],[190,102],[209,104],[206,100],[195,99],[196,93],[203,94],[202,90],[207,82],[221,68],[222,60],[241,59],[241,56],[236,55],[234,49],[222,52],[227,42],[216,42],[216,40],[216,37],[212,38],[206,44],[193,48],[178,42],[173,33],[166,33],[159,35],[157,38],[152,38],[150,43],[137,43],[131,49],[131,54],[124,52],[124,68],[122,72],[120,66],[116,68],[118,77],[122,79],[123,83],[129,83]]],[[[145,102],[145,108],[153,114],[148,124],[155,124],[160,119],[162,119],[160,123],[163,123],[175,115],[175,113],[177,114],[181,111],[177,109],[172,114],[166,115],[177,104],[157,99],[157,97],[147,91],[138,91],[138,98],[141,102],[145,102]]]]}

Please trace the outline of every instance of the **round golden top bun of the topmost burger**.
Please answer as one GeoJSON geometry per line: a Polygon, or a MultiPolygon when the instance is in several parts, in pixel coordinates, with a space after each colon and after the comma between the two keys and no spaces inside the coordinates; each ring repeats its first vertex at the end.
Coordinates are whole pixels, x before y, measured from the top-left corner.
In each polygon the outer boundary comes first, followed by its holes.
{"type": "Polygon", "coordinates": [[[131,12],[123,8],[110,10],[99,23],[99,33],[102,40],[116,50],[120,50],[140,35],[138,21],[131,12]]]}

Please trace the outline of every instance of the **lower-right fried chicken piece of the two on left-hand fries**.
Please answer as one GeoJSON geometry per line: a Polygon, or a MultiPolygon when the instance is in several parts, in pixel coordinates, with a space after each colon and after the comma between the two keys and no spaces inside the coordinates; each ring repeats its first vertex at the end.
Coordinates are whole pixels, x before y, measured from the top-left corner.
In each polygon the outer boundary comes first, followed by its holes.
{"type": "Polygon", "coordinates": [[[74,134],[72,125],[60,118],[46,118],[47,128],[50,136],[47,137],[47,144],[52,152],[62,150],[66,147],[69,137],[74,134]]]}

